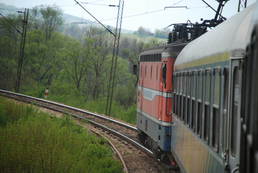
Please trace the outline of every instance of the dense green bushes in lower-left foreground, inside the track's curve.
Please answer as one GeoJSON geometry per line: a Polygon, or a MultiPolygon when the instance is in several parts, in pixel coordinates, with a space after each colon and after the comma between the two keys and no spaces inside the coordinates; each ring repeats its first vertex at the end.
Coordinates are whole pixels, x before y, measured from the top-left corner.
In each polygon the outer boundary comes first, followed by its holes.
{"type": "Polygon", "coordinates": [[[122,172],[107,141],[63,119],[0,97],[2,172],[122,172]],[[12,117],[3,126],[2,118],[12,117]],[[26,116],[25,116],[26,115],[26,116]],[[15,117],[15,118],[14,118],[15,117]]]}

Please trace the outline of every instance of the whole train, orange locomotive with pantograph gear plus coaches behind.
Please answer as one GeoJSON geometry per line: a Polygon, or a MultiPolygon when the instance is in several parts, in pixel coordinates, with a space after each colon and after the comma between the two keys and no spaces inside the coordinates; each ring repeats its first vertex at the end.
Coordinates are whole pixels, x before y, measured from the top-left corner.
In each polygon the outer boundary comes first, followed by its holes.
{"type": "Polygon", "coordinates": [[[138,142],[171,170],[258,172],[257,18],[258,2],[210,31],[174,24],[141,52],[138,142]]]}

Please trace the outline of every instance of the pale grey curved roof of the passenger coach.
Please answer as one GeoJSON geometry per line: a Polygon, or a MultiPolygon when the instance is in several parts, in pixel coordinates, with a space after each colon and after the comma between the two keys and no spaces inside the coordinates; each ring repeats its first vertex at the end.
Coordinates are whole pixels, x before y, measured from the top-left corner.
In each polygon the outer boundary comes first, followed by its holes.
{"type": "Polygon", "coordinates": [[[248,6],[190,42],[179,53],[174,66],[220,53],[233,53],[233,50],[245,50],[250,40],[253,8],[254,4],[248,6]]]}

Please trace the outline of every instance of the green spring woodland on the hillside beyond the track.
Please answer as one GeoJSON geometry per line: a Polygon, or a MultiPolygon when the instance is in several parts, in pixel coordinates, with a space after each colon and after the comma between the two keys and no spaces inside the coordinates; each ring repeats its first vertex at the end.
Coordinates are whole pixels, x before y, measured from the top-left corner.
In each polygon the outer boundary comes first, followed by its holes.
{"type": "MultiPolygon", "coordinates": [[[[29,9],[19,93],[44,98],[49,87],[48,100],[105,114],[114,36],[100,25],[64,25],[62,15],[55,5],[29,9]]],[[[23,17],[5,15],[20,31],[23,17]]],[[[21,34],[7,20],[0,17],[0,89],[15,92],[21,34]]],[[[110,116],[136,124],[132,65],[143,49],[157,44],[154,37],[149,42],[120,38],[110,116]]]]}

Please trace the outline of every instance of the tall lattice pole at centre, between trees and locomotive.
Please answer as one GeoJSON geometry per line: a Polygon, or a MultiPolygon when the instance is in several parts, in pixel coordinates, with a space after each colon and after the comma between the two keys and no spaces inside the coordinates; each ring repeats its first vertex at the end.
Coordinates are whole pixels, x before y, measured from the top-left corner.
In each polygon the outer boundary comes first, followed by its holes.
{"type": "Polygon", "coordinates": [[[117,54],[118,54],[120,30],[121,30],[121,23],[122,23],[123,7],[124,7],[124,1],[119,1],[116,36],[115,36],[115,42],[114,42],[113,58],[112,58],[112,64],[111,64],[110,80],[109,80],[108,95],[107,95],[106,115],[108,116],[110,116],[111,103],[112,103],[112,97],[113,97],[113,88],[115,83],[117,54]]]}

